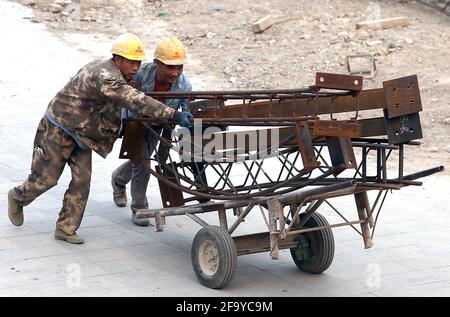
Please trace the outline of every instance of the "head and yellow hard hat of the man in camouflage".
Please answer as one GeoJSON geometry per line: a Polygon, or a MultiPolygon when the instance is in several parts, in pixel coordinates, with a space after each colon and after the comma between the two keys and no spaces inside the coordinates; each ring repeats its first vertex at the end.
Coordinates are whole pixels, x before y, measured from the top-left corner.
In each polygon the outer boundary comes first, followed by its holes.
{"type": "Polygon", "coordinates": [[[146,60],[144,43],[134,34],[119,35],[112,46],[114,62],[126,80],[130,81],[139,70],[141,61],[146,60]]]}

